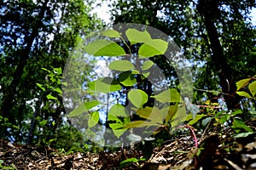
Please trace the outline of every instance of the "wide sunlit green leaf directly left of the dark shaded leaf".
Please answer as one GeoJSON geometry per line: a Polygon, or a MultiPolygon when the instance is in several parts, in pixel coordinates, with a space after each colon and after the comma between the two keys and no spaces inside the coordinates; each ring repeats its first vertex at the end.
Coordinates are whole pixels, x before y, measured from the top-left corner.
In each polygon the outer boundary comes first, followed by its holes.
{"type": "Polygon", "coordinates": [[[92,91],[109,93],[122,89],[119,82],[112,77],[102,77],[94,82],[89,82],[88,87],[92,91]]]}

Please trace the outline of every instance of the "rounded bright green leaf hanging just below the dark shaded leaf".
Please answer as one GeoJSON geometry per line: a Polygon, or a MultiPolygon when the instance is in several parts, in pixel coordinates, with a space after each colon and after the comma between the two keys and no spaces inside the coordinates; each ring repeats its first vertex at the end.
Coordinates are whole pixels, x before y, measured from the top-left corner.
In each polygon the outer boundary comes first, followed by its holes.
{"type": "Polygon", "coordinates": [[[128,99],[137,108],[142,107],[148,101],[148,94],[140,89],[131,89],[128,93],[128,99]]]}

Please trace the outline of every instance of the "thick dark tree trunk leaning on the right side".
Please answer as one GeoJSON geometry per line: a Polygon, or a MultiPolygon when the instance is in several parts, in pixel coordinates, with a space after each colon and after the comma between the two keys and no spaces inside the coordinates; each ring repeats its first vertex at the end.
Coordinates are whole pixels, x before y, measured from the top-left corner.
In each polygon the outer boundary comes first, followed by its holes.
{"type": "Polygon", "coordinates": [[[232,110],[238,107],[239,98],[236,96],[236,82],[233,82],[232,70],[228,65],[223,48],[219,41],[217,27],[215,21],[220,17],[220,2],[218,0],[200,0],[197,6],[198,11],[203,17],[204,25],[207,29],[207,36],[210,40],[210,48],[212,49],[212,63],[219,77],[219,84],[224,94],[225,102],[228,109],[232,110]]]}

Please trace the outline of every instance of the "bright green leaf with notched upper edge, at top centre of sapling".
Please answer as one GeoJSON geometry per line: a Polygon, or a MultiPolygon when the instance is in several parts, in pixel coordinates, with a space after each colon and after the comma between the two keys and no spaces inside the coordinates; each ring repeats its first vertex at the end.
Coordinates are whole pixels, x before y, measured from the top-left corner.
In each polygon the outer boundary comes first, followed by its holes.
{"type": "Polygon", "coordinates": [[[150,42],[152,39],[148,31],[137,31],[136,29],[128,29],[125,31],[131,44],[137,42],[150,42]]]}

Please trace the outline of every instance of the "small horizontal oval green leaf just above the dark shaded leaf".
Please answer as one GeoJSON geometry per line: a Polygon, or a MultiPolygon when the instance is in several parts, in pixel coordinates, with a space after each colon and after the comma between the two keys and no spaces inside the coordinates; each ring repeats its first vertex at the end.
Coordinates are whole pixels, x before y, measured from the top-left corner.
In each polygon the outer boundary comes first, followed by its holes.
{"type": "Polygon", "coordinates": [[[128,60],[114,60],[108,68],[115,71],[130,71],[134,69],[134,65],[128,60]]]}

